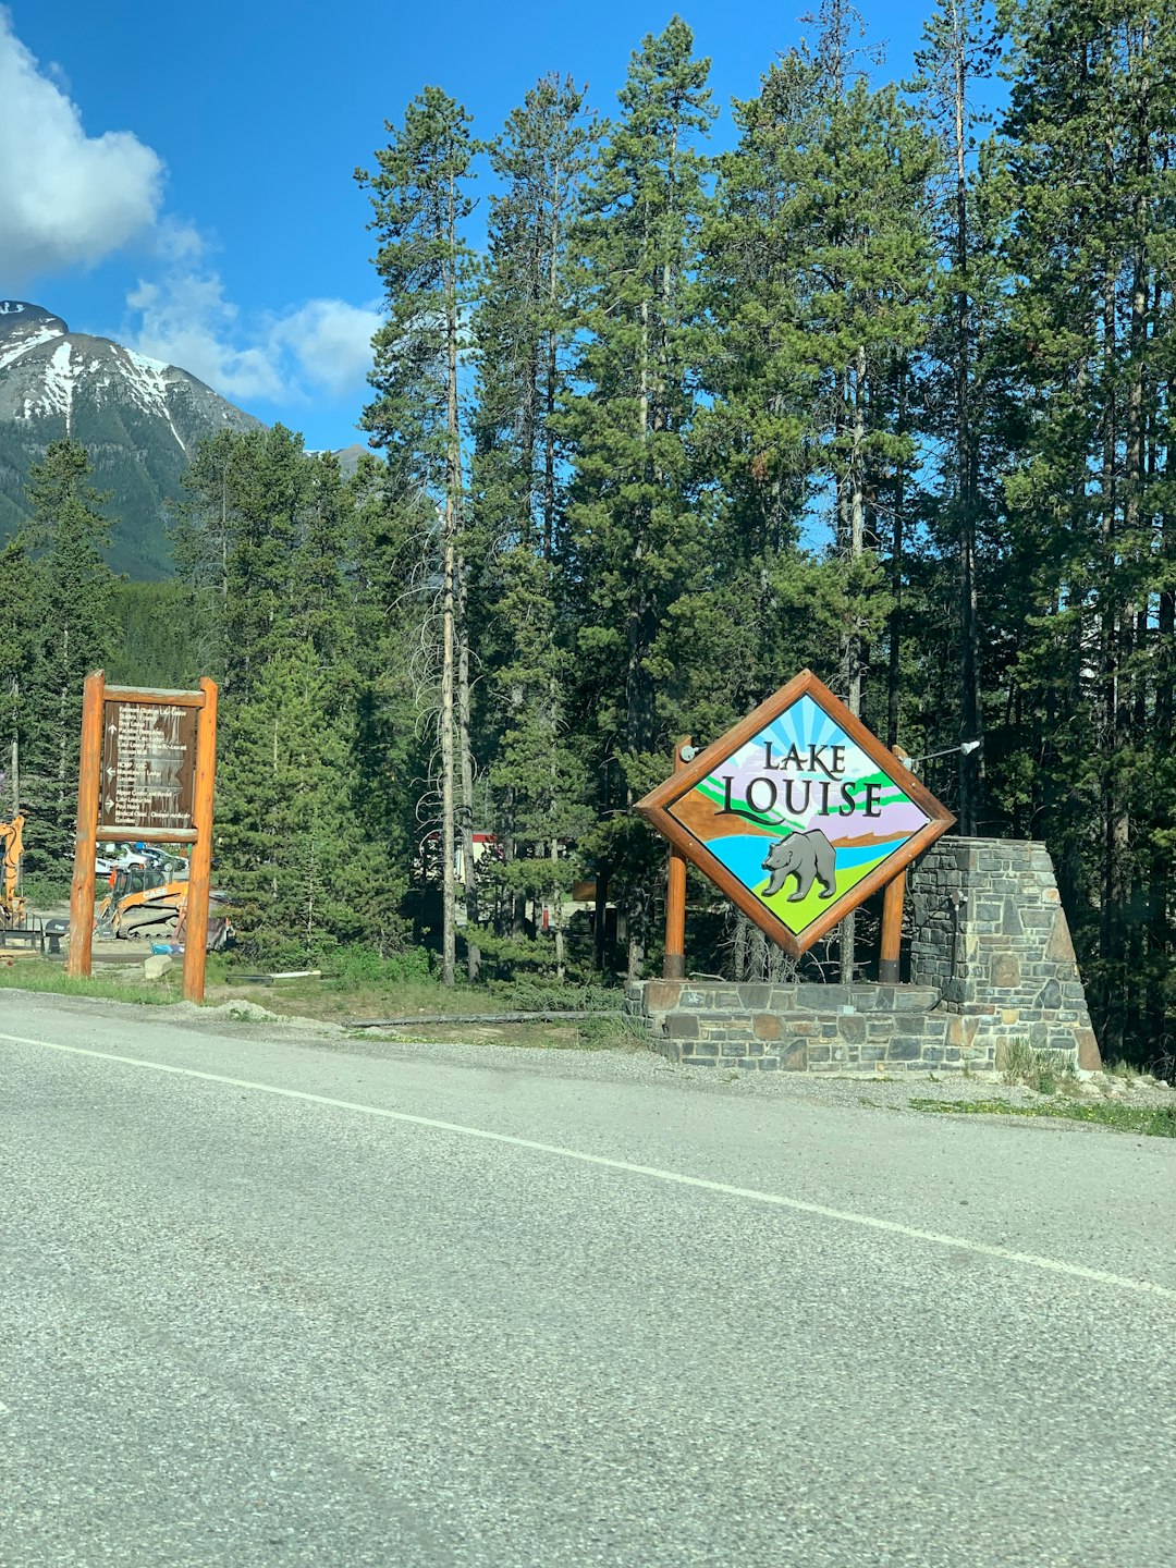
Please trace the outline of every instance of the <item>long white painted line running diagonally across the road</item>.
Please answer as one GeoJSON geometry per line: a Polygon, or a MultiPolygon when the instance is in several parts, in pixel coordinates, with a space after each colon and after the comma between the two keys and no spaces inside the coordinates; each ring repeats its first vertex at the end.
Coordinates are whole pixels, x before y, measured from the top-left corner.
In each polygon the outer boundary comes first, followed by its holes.
{"type": "Polygon", "coordinates": [[[920,1231],[897,1220],[881,1220],[872,1214],[855,1214],[851,1209],[831,1209],[823,1203],[806,1203],[803,1198],[786,1198],[778,1192],[762,1192],[756,1187],[731,1187],[728,1182],[707,1181],[704,1176],[685,1176],[682,1171],[662,1170],[659,1165],[635,1165],[632,1160],[613,1160],[607,1154],[586,1154],[583,1149],[566,1149],[560,1143],[539,1143],[535,1138],[517,1138],[510,1132],[491,1132],[486,1127],[467,1127],[459,1121],[437,1121],[434,1116],[416,1116],[408,1110],[387,1110],[383,1105],[361,1105],[351,1099],[331,1099],[328,1094],[310,1094],[301,1088],[282,1088],[278,1083],[254,1083],[251,1079],[234,1079],[223,1073],[201,1073],[199,1068],[180,1068],[171,1062],[144,1062],[140,1057],[116,1057],[108,1051],[91,1051],[86,1046],[61,1046],[55,1040],[30,1040],[27,1035],[3,1035],[17,1046],[41,1046],[45,1051],[61,1051],[71,1057],[96,1057],[99,1062],[116,1062],[129,1068],[147,1068],[152,1073],[171,1073],[176,1077],[201,1079],[205,1083],[226,1083],[229,1088],[248,1088],[259,1094],[278,1094],[282,1099],[301,1099],[310,1105],[329,1105],[332,1110],[354,1110],[362,1116],[383,1116],[386,1121],[403,1121],[412,1127],[431,1127],[436,1132],[453,1132],[463,1138],[481,1138],[485,1143],[505,1143],[514,1149],[533,1149],[536,1154],[554,1154],[563,1160],[579,1160],[582,1165],[597,1165],[602,1170],[626,1171],[629,1176],[648,1176],[652,1181],[671,1182],[677,1187],[696,1187],[701,1192],[721,1193],[724,1198],[743,1198],[748,1203],[765,1203],[776,1209],[792,1209],[797,1214],[815,1214],[823,1220],[839,1220],[842,1225],[858,1225],[869,1231],[886,1231],[891,1236],[906,1236],[916,1242],[933,1242],[936,1247],[952,1247],[982,1258],[999,1258],[1002,1262],[1041,1269],[1046,1273],[1065,1275],[1069,1279],[1087,1279],[1120,1290],[1137,1290],[1176,1301],[1176,1290],[1151,1279],[1132,1279],[1129,1275],[1107,1273],[1104,1269],[1085,1269],[1058,1258],[1043,1258],[1038,1253],[1018,1253],[1008,1247],[989,1247],[986,1242],[969,1242],[961,1236],[942,1236],[939,1231],[920,1231]]]}

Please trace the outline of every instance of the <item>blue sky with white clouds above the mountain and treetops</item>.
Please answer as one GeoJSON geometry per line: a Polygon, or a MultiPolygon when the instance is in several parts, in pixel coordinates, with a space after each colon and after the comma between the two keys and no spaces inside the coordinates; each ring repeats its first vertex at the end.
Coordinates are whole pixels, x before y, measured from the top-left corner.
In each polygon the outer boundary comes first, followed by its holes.
{"type": "MultiPolygon", "coordinates": [[[[715,146],[731,97],[812,33],[793,3],[682,3],[713,61],[715,146]]],[[[437,83],[491,136],[549,71],[586,82],[608,114],[630,52],[673,9],[8,0],[0,298],[169,359],[310,447],[359,441],[379,290],[351,174],[384,121],[437,83]]],[[[877,75],[906,75],[924,6],[861,11],[886,44],[877,75]]]]}

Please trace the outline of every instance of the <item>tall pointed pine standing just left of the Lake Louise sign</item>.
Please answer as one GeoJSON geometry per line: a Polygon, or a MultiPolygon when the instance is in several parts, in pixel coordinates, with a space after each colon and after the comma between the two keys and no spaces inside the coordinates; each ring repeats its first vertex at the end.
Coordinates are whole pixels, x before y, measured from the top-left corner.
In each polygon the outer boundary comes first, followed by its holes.
{"type": "Polygon", "coordinates": [[[698,230],[713,119],[709,61],[679,17],[644,39],[621,89],[621,118],[585,193],[577,237],[583,342],[560,430],[572,450],[569,568],[593,724],[597,886],[615,878],[629,925],[629,972],[651,933],[657,850],[633,801],[665,771],[657,641],[702,572],[706,527],[691,506],[688,437],[699,358],[698,230]]]}

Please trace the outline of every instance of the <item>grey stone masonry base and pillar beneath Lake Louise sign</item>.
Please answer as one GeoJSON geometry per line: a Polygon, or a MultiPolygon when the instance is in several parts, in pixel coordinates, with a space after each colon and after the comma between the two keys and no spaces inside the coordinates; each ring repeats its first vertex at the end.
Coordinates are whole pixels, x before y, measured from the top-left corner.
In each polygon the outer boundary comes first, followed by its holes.
{"type": "Polygon", "coordinates": [[[1099,1066],[1044,845],[944,837],[916,862],[909,898],[909,985],[643,980],[626,1008],[691,1066],[991,1071],[1014,1040],[1099,1066]]]}

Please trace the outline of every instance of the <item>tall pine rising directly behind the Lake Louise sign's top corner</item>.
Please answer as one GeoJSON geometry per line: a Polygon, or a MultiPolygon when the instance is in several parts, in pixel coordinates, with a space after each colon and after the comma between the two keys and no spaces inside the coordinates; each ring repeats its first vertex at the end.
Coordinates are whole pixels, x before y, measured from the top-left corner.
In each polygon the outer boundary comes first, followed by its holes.
{"type": "MultiPolygon", "coordinates": [[[[800,296],[792,353],[814,394],[811,475],[834,510],[845,596],[837,684],[850,712],[861,715],[870,649],[894,610],[877,552],[889,513],[898,575],[916,464],[905,387],[930,320],[936,152],[897,89],[870,91],[855,71],[856,13],[831,0],[822,17],[815,61],[787,63],[806,119],[787,187],[800,296]]],[[[855,930],[850,916],[842,924],[845,980],[855,971],[855,930]]]]}

